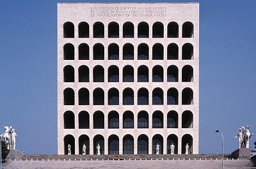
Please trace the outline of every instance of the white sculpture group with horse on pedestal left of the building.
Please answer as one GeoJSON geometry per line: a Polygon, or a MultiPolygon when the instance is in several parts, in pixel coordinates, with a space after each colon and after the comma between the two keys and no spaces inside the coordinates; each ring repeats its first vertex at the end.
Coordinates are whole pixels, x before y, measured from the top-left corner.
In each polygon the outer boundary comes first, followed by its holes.
{"type": "Polygon", "coordinates": [[[16,137],[15,129],[12,126],[4,126],[5,132],[0,135],[1,141],[6,143],[7,149],[15,149],[16,147],[16,137]]]}

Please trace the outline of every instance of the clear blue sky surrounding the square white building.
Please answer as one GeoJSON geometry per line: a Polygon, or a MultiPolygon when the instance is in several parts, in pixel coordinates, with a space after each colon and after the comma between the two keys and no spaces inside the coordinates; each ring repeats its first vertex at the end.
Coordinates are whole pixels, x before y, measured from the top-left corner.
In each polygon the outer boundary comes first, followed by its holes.
{"type": "MultiPolygon", "coordinates": [[[[57,154],[58,2],[0,2],[0,133],[13,126],[26,154],[57,154]]],[[[256,134],[256,1],[140,2],[200,3],[199,152],[221,153],[216,129],[235,151],[241,126],[256,134]]]]}

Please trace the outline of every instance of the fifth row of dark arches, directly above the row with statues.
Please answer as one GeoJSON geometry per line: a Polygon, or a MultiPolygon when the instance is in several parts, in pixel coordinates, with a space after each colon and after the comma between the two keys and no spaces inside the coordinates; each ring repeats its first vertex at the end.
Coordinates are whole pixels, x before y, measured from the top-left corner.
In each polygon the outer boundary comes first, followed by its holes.
{"type": "MultiPolygon", "coordinates": [[[[134,128],[134,114],[132,111],[127,110],[122,117],[115,110],[108,113],[108,129],[129,129],[134,128]],[[120,126],[120,118],[122,119],[123,126],[120,126]]],[[[90,120],[90,114],[85,110],[78,114],[78,128],[90,129],[90,121],[93,122],[93,129],[104,129],[105,117],[101,111],[93,113],[90,120]]],[[[72,111],[68,110],[63,114],[64,129],[75,129],[75,115],[72,111]]],[[[167,128],[178,128],[179,115],[175,110],[171,110],[167,114],[167,119],[164,119],[163,112],[157,110],[153,112],[152,119],[149,119],[148,112],[141,110],[136,116],[137,128],[149,128],[149,121],[152,121],[152,128],[164,128],[164,122],[167,124],[167,128]]],[[[189,110],[182,112],[181,118],[182,128],[193,128],[193,113],[189,110]]]]}

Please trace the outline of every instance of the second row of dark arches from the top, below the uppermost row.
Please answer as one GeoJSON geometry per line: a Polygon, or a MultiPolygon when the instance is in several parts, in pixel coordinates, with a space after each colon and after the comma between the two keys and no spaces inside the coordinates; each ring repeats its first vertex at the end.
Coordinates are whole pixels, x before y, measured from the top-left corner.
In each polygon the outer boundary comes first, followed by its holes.
{"type": "MultiPolygon", "coordinates": [[[[104,60],[104,45],[96,43],[93,45],[93,60],[104,60]]],[[[119,60],[119,46],[116,43],[108,45],[108,60],[119,60]]],[[[66,43],[63,46],[63,57],[64,60],[75,59],[75,47],[72,43],[66,43]]],[[[125,43],[122,48],[123,60],[134,60],[134,45],[131,43],[125,43]]],[[[179,47],[176,43],[170,43],[166,51],[168,60],[179,59],[179,47]]],[[[90,48],[86,43],[81,43],[78,47],[78,59],[89,60],[90,59],[90,48]]],[[[149,58],[149,47],[146,43],[138,45],[138,60],[148,60],[149,58]]],[[[164,59],[164,46],[161,43],[156,43],[152,47],[152,60],[163,60],[164,59]]],[[[182,45],[182,60],[193,60],[193,45],[191,43],[184,43],[182,45]]]]}

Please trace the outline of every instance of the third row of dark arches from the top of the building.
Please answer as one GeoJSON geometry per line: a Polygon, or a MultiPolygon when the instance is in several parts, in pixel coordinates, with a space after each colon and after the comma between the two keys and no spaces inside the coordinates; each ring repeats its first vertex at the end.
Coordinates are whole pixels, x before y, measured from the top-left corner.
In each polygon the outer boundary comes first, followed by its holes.
{"type": "MultiPolygon", "coordinates": [[[[175,65],[167,68],[167,82],[179,82],[179,68],[175,65]]],[[[108,82],[119,82],[119,68],[111,65],[108,68],[108,82]]],[[[141,65],[137,71],[137,82],[149,82],[152,74],[152,82],[164,82],[164,69],[160,65],[152,68],[149,72],[148,66],[141,65]]],[[[75,82],[75,70],[71,65],[63,68],[64,82],[75,82]]],[[[93,67],[93,82],[104,82],[105,71],[103,66],[93,67]]],[[[78,82],[90,82],[90,70],[88,66],[82,65],[78,68],[78,82]]],[[[122,82],[134,82],[134,68],[131,65],[124,66],[122,70],[122,82]]],[[[193,82],[193,67],[185,65],[182,67],[182,82],[193,82]]]]}

